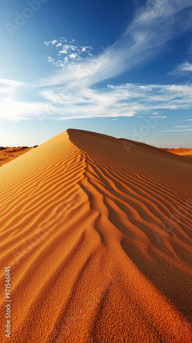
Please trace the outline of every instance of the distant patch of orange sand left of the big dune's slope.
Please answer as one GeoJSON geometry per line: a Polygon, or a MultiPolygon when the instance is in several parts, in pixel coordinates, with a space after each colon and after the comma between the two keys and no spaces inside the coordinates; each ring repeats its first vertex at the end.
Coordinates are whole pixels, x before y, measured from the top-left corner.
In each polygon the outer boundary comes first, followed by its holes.
{"type": "Polygon", "coordinates": [[[0,166],[12,161],[34,147],[0,147],[0,166]]]}

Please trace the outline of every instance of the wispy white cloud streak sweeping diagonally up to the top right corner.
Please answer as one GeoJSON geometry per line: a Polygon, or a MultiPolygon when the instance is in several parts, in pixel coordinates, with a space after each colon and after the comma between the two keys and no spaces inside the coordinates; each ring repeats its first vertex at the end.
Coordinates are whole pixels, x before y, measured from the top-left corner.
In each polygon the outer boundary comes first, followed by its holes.
{"type": "MultiPolygon", "coordinates": [[[[99,56],[67,64],[64,73],[58,71],[42,83],[48,86],[69,84],[76,80],[77,83],[93,85],[114,78],[154,57],[176,34],[192,27],[191,13],[191,0],[147,0],[144,6],[138,8],[125,34],[114,45],[99,56]],[[187,8],[188,11],[183,14],[182,10],[187,8]]],[[[65,53],[67,49],[60,51],[65,53]]]]}

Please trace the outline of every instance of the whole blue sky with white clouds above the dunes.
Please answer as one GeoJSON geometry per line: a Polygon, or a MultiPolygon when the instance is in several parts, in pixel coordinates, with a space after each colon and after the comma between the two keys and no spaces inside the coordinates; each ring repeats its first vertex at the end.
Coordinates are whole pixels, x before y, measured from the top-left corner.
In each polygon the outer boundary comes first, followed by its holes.
{"type": "Polygon", "coordinates": [[[192,147],[191,0],[1,1],[0,145],[67,128],[192,147]]]}

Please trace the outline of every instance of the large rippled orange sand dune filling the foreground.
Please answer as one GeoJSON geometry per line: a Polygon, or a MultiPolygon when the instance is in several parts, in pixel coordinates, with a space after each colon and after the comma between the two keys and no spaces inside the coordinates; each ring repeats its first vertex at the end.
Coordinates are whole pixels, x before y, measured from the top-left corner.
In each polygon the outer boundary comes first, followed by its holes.
{"type": "Polygon", "coordinates": [[[81,130],[3,165],[10,342],[192,342],[191,171],[180,156],[81,130]]]}

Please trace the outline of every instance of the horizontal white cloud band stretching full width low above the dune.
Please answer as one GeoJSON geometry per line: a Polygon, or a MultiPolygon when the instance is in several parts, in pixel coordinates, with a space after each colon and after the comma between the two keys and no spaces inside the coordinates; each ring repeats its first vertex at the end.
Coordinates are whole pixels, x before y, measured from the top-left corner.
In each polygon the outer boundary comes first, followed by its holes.
{"type": "MultiPolygon", "coordinates": [[[[18,87],[18,86],[17,86],[18,87]]],[[[4,93],[10,94],[10,87],[4,93]]],[[[131,117],[148,115],[149,118],[166,119],[163,110],[192,108],[192,85],[108,85],[108,88],[89,88],[71,84],[71,88],[56,86],[40,91],[42,101],[19,102],[16,89],[12,97],[3,97],[0,87],[1,117],[29,118],[37,114],[43,118],[70,119],[93,117],[131,117]],[[11,105],[11,107],[10,107],[11,105]],[[157,113],[152,115],[152,113],[157,113]],[[159,113],[159,114],[158,114],[159,113]],[[151,116],[149,116],[151,114],[151,116]]],[[[38,91],[39,88],[36,88],[38,91]]]]}

